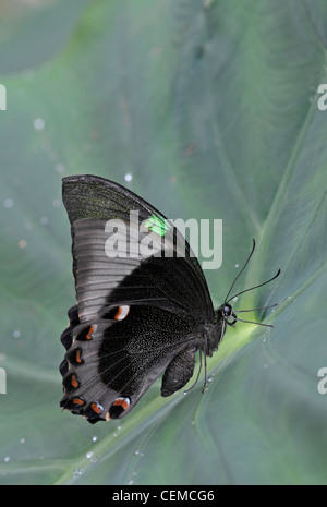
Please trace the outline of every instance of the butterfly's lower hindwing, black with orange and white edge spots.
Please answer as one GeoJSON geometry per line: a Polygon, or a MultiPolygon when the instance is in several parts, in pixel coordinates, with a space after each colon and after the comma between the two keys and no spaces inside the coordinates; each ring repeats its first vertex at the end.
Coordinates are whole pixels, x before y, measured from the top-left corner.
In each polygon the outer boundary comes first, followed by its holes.
{"type": "Polygon", "coordinates": [[[172,360],[175,370],[177,351],[194,341],[194,322],[169,311],[135,305],[129,317],[116,319],[119,314],[70,326],[71,339],[64,339],[61,407],[92,423],[125,415],[172,360]],[[126,407],[122,410],[117,400],[125,400],[126,407]]]}

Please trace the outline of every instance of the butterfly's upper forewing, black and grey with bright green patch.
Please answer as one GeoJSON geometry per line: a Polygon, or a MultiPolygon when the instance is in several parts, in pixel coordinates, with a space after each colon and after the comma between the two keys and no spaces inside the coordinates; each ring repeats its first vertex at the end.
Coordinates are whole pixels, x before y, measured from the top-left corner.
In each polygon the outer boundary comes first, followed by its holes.
{"type": "MultiPolygon", "coordinates": [[[[82,322],[100,310],[104,312],[110,302],[124,299],[132,299],[134,304],[143,302],[183,307],[202,321],[214,318],[213,302],[196,256],[182,234],[150,204],[118,183],[94,176],[64,178],[63,203],[72,225],[73,271],[82,322]],[[131,222],[131,212],[137,212],[137,221],[131,222]],[[125,232],[130,251],[137,253],[145,238],[144,234],[140,237],[138,227],[153,217],[164,219],[169,228],[169,237],[165,237],[165,257],[134,254],[111,256],[108,262],[108,221],[116,220],[122,228],[128,225],[125,232]],[[135,273],[144,263],[150,276],[144,275],[144,269],[135,273]],[[129,283],[133,285],[132,292],[130,285],[121,286],[128,276],[129,283]],[[144,277],[147,279],[142,280],[144,277]],[[114,292],[113,297],[112,291],[118,287],[120,297],[117,300],[118,293],[114,292]]],[[[162,237],[154,232],[156,227],[150,227],[152,239],[160,253],[162,237]]]]}

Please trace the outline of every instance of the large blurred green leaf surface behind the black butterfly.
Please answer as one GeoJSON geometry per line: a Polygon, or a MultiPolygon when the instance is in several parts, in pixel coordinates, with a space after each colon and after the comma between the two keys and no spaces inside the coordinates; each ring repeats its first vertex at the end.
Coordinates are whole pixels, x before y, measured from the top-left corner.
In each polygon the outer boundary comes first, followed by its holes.
{"type": "Polygon", "coordinates": [[[324,0],[0,4],[1,484],[326,484],[324,0]],[[210,385],[90,426],[62,413],[74,303],[61,178],[122,183],[169,217],[223,220],[215,305],[252,244],[210,385]],[[125,177],[130,174],[131,181],[125,177]]]}

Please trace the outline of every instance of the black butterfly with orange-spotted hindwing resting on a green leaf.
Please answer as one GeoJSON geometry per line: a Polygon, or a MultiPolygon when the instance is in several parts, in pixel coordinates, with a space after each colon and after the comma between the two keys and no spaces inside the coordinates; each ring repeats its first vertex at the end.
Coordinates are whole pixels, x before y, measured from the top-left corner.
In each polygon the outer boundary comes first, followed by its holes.
{"type": "Polygon", "coordinates": [[[63,203],[71,222],[77,304],[61,336],[66,354],[60,365],[60,405],[90,423],[119,419],[164,371],[161,396],[185,386],[196,352],[213,355],[227,326],[240,321],[230,301],[245,291],[229,298],[237,277],[215,311],[184,238],[161,213],[117,183],[95,176],[64,178],[63,203]],[[131,220],[130,212],[137,212],[137,220],[131,220]],[[108,246],[107,222],[113,219],[125,225],[129,240],[129,251],[118,250],[116,256],[108,246]],[[146,234],[154,250],[144,255],[140,246],[146,234]]]}

